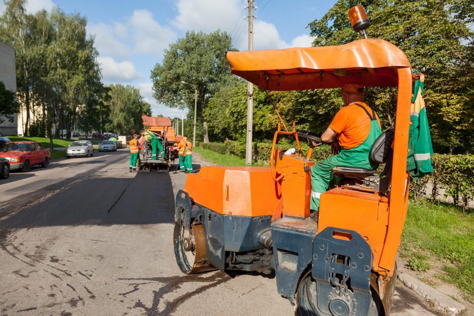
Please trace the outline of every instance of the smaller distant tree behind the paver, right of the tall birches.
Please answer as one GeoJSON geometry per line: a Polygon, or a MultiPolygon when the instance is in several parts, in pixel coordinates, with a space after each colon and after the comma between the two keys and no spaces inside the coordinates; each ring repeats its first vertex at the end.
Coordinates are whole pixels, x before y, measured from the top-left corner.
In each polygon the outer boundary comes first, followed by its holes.
{"type": "Polygon", "coordinates": [[[151,105],[143,100],[140,90],[121,84],[109,86],[109,123],[105,128],[119,134],[138,133],[143,128],[142,115],[151,115],[151,105]]]}

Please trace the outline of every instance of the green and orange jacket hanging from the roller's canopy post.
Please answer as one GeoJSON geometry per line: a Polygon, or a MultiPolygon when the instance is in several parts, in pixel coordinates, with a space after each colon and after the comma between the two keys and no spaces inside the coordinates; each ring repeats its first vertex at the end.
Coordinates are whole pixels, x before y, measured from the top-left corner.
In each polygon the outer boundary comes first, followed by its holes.
{"type": "Polygon", "coordinates": [[[425,76],[413,83],[413,97],[410,106],[410,133],[408,137],[408,159],[406,170],[411,172],[413,179],[419,179],[433,172],[431,156],[430,126],[426,114],[425,100],[423,99],[423,83],[425,76]]]}

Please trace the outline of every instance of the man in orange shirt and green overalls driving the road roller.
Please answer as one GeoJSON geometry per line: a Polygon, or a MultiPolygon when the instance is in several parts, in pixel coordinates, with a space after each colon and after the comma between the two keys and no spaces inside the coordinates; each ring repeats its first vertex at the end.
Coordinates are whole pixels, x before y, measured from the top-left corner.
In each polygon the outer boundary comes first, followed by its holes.
{"type": "Polygon", "coordinates": [[[311,168],[311,210],[319,209],[320,195],[329,188],[335,166],[375,169],[377,164],[369,159],[369,152],[377,137],[382,134],[380,121],[373,109],[363,100],[364,87],[346,84],[342,88],[342,107],[334,116],[321,140],[331,143],[334,156],[328,157],[311,168]]]}

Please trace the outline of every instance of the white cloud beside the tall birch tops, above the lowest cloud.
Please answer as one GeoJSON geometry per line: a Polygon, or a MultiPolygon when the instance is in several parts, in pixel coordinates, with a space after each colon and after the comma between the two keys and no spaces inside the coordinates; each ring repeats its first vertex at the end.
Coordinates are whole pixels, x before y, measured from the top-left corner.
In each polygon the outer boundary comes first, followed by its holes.
{"type": "Polygon", "coordinates": [[[87,32],[95,36],[94,43],[99,54],[124,57],[131,54],[130,46],[119,39],[124,37],[124,28],[126,29],[125,25],[120,23],[116,23],[115,27],[104,23],[90,23],[87,25],[87,32]]]}

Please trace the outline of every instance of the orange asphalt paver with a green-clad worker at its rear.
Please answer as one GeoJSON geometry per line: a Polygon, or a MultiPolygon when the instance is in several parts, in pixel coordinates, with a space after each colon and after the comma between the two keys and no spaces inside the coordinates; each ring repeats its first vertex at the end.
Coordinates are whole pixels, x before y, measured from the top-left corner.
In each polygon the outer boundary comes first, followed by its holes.
{"type": "Polygon", "coordinates": [[[142,121],[145,144],[139,152],[139,171],[168,171],[177,158],[177,151],[173,149],[176,136],[171,119],[142,115],[142,121]]]}

